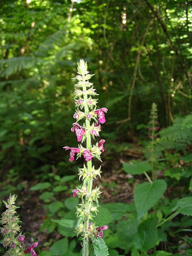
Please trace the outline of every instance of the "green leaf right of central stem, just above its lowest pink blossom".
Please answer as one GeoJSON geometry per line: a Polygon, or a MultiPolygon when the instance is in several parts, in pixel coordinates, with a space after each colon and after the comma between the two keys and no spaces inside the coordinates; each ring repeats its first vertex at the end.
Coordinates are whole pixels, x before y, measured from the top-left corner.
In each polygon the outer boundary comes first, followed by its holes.
{"type": "Polygon", "coordinates": [[[107,225],[109,223],[111,223],[111,221],[113,220],[111,213],[108,211],[107,208],[100,206],[98,208],[99,212],[97,212],[96,217],[94,218],[94,224],[97,227],[101,227],[103,225],[107,225]]]}

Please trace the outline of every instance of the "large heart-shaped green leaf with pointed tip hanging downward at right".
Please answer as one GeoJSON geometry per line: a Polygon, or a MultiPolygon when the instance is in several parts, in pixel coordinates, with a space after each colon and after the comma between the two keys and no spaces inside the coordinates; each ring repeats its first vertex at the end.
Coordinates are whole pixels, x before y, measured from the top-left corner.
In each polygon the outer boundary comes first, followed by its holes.
{"type": "Polygon", "coordinates": [[[134,202],[139,220],[162,197],[166,186],[164,180],[155,180],[153,184],[145,182],[137,186],[134,192],[134,202]]]}

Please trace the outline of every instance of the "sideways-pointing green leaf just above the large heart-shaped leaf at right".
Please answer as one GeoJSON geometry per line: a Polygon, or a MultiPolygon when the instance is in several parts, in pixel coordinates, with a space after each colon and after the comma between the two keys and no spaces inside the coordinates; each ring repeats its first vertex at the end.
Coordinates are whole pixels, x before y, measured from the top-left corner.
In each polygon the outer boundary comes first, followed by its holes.
{"type": "Polygon", "coordinates": [[[148,161],[141,163],[123,163],[123,169],[126,173],[130,173],[132,175],[142,174],[143,172],[147,172],[151,170],[151,164],[148,161]]]}

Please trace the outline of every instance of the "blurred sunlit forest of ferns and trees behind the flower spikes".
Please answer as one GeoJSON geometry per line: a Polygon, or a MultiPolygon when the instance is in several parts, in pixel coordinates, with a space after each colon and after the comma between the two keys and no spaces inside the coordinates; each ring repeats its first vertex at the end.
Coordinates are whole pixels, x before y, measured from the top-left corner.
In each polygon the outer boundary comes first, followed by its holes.
{"type": "MultiPolygon", "coordinates": [[[[169,186],[162,205],[171,209],[175,198],[191,195],[191,32],[189,0],[0,2],[0,198],[18,195],[23,232],[40,248],[49,250],[61,239],[50,218],[61,218],[78,203],[70,196],[81,161],[70,163],[62,147],[76,145],[70,132],[75,111],[71,78],[81,58],[95,74],[91,82],[99,93],[98,108],[108,108],[103,177],[97,180],[101,203],[112,209],[121,202],[126,212],[137,183],[145,181],[143,174],[131,175],[124,163],[148,160],[153,102],[160,127],[156,176],[169,186]]],[[[182,218],[179,227],[172,224],[162,231],[161,250],[183,254],[191,248],[189,231],[177,233],[191,225],[182,226],[182,218]]],[[[123,221],[114,217],[112,230],[116,220],[123,221]]],[[[126,237],[123,225],[114,231],[116,241],[126,237]]],[[[114,246],[109,237],[111,256],[131,255],[130,248],[114,246]]],[[[78,255],[74,240],[62,241],[78,255]]]]}

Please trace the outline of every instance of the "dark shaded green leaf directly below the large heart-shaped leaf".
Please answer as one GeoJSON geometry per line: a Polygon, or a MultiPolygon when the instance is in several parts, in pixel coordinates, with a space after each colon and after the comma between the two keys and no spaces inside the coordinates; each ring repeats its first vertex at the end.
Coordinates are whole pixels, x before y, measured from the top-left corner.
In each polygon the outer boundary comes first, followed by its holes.
{"type": "Polygon", "coordinates": [[[149,250],[157,243],[158,235],[157,228],[152,219],[143,221],[139,227],[136,236],[134,237],[135,247],[142,252],[149,250]]]}

